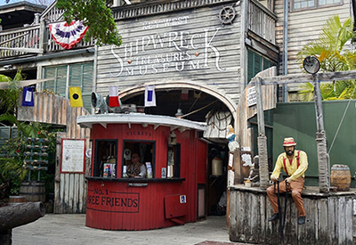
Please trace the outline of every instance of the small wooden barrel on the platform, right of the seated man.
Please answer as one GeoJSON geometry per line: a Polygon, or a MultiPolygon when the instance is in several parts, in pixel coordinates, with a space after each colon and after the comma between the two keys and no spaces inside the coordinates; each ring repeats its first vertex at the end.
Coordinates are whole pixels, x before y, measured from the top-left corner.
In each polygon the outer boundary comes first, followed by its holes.
{"type": "Polygon", "coordinates": [[[351,184],[350,167],[347,165],[335,164],[331,167],[331,186],[336,186],[337,191],[349,191],[351,184]]]}

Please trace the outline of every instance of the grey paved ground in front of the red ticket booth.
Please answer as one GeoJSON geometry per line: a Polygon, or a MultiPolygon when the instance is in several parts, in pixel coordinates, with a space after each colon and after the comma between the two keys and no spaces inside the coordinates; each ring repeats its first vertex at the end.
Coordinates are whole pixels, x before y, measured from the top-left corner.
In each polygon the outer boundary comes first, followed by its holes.
{"type": "Polygon", "coordinates": [[[12,229],[13,245],[30,244],[240,244],[229,241],[225,216],[174,227],[140,231],[105,231],[85,226],[85,215],[47,214],[12,229]]]}

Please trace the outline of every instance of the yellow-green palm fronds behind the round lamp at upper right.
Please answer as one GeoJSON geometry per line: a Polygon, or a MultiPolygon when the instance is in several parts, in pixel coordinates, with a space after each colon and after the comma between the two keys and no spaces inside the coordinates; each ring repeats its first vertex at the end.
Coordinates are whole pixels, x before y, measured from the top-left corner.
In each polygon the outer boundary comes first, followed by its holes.
{"type": "MultiPolygon", "coordinates": [[[[330,17],[321,29],[320,37],[303,46],[297,54],[302,64],[305,57],[314,55],[320,61],[320,71],[333,72],[356,69],[356,53],[345,48],[356,37],[352,18],[341,23],[339,16],[330,17]]],[[[302,101],[312,101],[314,86],[305,83],[298,92],[302,101]]],[[[354,80],[321,83],[320,92],[323,100],[354,99],[356,94],[354,80]]]]}

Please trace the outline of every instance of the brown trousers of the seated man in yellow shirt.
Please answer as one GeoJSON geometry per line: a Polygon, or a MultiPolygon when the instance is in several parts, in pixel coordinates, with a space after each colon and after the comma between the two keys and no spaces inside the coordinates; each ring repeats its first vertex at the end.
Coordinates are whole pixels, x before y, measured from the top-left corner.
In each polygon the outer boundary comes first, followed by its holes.
{"type": "MultiPolygon", "coordinates": [[[[295,200],[295,208],[298,210],[298,216],[305,216],[305,209],[303,205],[302,192],[304,188],[304,178],[299,177],[296,180],[292,181],[288,185],[288,192],[292,192],[292,198],[295,200]]],[[[274,191],[274,184],[267,188],[267,195],[271,200],[271,205],[273,212],[275,214],[279,213],[278,209],[278,200],[277,193],[278,188],[276,185],[276,191],[274,191]]],[[[279,193],[286,192],[286,182],[279,183],[279,193]]]]}

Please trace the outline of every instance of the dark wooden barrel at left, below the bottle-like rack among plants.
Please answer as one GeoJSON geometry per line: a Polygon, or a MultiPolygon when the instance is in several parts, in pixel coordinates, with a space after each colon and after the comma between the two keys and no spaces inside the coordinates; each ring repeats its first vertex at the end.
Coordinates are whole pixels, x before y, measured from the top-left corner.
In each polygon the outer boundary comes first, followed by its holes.
{"type": "Polygon", "coordinates": [[[25,196],[26,201],[45,201],[44,182],[41,181],[24,181],[20,185],[20,195],[25,196]]]}

